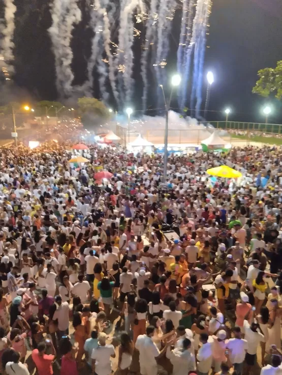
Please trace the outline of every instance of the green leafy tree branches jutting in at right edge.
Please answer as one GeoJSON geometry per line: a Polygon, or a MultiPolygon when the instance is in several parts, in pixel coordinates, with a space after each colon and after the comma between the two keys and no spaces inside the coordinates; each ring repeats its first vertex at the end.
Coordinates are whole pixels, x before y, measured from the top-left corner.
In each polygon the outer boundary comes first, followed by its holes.
{"type": "Polygon", "coordinates": [[[268,97],[275,94],[277,99],[282,98],[282,61],[278,61],[276,68],[265,68],[258,72],[259,80],[253,88],[253,93],[268,97]]]}

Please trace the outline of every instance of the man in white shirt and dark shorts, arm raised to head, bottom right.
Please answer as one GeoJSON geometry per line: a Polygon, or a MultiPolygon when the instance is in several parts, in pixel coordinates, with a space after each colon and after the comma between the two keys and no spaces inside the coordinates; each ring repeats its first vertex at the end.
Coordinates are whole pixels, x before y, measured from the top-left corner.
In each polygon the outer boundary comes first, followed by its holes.
{"type": "Polygon", "coordinates": [[[247,373],[252,372],[252,368],[255,366],[257,360],[257,350],[260,342],[265,342],[264,335],[258,332],[259,324],[244,321],[245,339],[248,343],[247,353],[245,362],[247,365],[247,373]]]}

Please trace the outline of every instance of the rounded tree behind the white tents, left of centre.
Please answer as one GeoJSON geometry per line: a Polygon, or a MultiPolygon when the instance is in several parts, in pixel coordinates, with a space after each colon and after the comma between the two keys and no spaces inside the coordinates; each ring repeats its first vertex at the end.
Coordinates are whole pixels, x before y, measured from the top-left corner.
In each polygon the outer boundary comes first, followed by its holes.
{"type": "Polygon", "coordinates": [[[77,104],[81,122],[87,130],[97,130],[110,117],[108,108],[98,99],[79,98],[77,104]]]}

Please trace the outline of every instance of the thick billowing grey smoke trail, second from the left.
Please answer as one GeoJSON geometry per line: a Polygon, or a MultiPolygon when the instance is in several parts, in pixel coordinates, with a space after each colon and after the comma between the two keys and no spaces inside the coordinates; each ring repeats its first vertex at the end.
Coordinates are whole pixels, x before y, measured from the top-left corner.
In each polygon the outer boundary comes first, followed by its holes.
{"type": "Polygon", "coordinates": [[[56,85],[60,95],[70,96],[74,74],[71,69],[73,51],[71,48],[74,24],[81,21],[77,0],[54,0],[51,9],[52,26],[50,34],[55,55],[56,85]]]}

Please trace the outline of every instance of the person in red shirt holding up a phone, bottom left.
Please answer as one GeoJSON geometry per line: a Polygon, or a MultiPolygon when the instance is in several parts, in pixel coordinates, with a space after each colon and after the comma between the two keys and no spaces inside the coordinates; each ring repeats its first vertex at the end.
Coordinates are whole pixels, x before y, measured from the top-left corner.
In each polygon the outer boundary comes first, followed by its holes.
{"type": "Polygon", "coordinates": [[[38,375],[53,375],[53,362],[56,356],[56,351],[52,340],[45,340],[37,345],[37,349],[32,351],[32,359],[36,365],[38,375]],[[46,345],[51,346],[53,354],[45,354],[46,345]]]}

